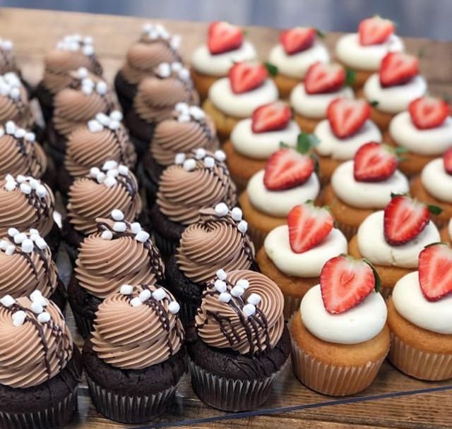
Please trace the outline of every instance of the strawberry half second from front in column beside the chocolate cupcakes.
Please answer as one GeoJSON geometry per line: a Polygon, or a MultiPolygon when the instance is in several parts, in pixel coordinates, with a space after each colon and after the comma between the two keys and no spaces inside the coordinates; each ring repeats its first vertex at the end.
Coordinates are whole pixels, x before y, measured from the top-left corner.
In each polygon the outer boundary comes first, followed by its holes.
{"type": "Polygon", "coordinates": [[[303,253],[317,246],[333,229],[333,216],[324,207],[311,203],[296,205],[287,214],[290,247],[303,253]]]}

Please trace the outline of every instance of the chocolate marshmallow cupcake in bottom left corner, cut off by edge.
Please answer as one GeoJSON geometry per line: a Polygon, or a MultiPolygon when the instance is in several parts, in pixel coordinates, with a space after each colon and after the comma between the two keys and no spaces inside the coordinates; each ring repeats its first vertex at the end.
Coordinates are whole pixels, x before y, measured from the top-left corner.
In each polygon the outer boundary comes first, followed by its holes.
{"type": "Polygon", "coordinates": [[[0,426],[60,428],[77,409],[81,356],[59,308],[40,291],[0,299],[0,426]]]}

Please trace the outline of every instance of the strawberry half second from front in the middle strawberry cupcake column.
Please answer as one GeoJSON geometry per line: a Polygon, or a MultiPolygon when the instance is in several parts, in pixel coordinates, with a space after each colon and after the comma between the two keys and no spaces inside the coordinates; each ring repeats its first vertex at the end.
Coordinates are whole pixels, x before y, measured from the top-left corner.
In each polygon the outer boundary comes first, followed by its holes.
{"type": "Polygon", "coordinates": [[[417,237],[430,220],[429,207],[406,195],[395,195],[384,210],[384,237],[400,246],[417,237]]]}

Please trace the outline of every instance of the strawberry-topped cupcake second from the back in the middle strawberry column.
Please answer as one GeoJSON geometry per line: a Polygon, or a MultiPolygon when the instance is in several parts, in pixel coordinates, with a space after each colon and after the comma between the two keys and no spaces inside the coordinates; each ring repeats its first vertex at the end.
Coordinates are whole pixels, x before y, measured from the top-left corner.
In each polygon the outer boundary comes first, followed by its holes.
{"type": "Polygon", "coordinates": [[[345,68],[339,64],[316,62],[309,67],[304,82],[295,85],[290,92],[290,106],[295,121],[307,133],[326,119],[328,105],[338,97],[355,98],[348,86],[345,68]]]}

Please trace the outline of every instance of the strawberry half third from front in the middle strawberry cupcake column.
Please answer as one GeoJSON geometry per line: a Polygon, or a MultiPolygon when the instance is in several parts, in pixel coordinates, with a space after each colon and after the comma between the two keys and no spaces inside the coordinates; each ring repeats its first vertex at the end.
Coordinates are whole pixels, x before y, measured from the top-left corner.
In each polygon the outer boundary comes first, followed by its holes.
{"type": "Polygon", "coordinates": [[[355,154],[353,175],[359,182],[379,182],[391,177],[396,167],[396,153],[390,147],[369,142],[355,154]]]}

